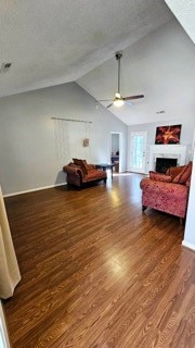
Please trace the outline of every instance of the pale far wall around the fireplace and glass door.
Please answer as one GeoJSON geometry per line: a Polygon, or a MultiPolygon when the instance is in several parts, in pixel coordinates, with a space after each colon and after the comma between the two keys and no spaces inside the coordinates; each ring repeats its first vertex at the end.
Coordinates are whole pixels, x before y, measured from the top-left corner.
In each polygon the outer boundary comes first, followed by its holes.
{"type": "MultiPolygon", "coordinates": [[[[186,162],[192,160],[192,144],[193,144],[193,134],[195,127],[195,117],[188,116],[183,119],[164,121],[164,122],[154,122],[154,123],[145,123],[140,125],[128,126],[128,139],[130,139],[131,132],[147,132],[147,152],[146,152],[146,173],[148,171],[148,162],[150,162],[150,145],[155,144],[155,135],[156,135],[156,127],[158,126],[167,126],[167,125],[177,125],[181,124],[181,137],[180,144],[187,146],[187,153],[186,153],[186,162]]],[[[166,146],[166,145],[165,145],[166,146]]],[[[127,167],[130,169],[130,141],[128,141],[128,159],[127,159],[127,167]]]]}

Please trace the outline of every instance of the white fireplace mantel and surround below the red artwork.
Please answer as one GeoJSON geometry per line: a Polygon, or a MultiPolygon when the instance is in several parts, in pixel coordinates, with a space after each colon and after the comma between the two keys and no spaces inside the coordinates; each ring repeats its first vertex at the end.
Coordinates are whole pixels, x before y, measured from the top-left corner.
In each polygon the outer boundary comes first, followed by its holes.
{"type": "Polygon", "coordinates": [[[186,161],[186,145],[151,145],[150,171],[155,171],[157,158],[177,159],[178,165],[183,165],[186,161]]]}

